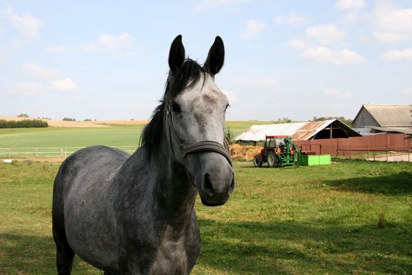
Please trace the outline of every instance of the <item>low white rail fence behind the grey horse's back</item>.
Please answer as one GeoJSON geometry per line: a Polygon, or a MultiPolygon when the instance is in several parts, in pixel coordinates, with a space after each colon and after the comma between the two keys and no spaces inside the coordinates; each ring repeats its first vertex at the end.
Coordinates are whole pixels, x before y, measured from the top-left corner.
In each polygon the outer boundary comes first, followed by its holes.
{"type": "MultiPolygon", "coordinates": [[[[138,145],[109,146],[133,153],[139,147],[138,145]]],[[[0,158],[18,158],[18,157],[67,157],[72,153],[85,147],[26,147],[26,148],[0,148],[0,158]]]]}

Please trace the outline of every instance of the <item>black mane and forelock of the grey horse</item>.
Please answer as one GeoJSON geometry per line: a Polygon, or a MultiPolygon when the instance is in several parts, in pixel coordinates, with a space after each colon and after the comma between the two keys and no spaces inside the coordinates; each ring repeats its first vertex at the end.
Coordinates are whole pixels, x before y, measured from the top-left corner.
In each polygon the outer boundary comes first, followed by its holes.
{"type": "MultiPolygon", "coordinates": [[[[165,94],[163,94],[160,104],[152,113],[150,122],[144,127],[141,133],[140,145],[146,148],[148,158],[159,153],[161,140],[165,133],[165,104],[170,100],[176,98],[183,90],[192,88],[201,79],[205,77],[207,69],[198,65],[196,61],[187,58],[181,69],[176,74],[172,75],[169,72],[168,80],[165,85],[165,94]]],[[[204,83],[203,83],[204,84],[204,83]]]]}

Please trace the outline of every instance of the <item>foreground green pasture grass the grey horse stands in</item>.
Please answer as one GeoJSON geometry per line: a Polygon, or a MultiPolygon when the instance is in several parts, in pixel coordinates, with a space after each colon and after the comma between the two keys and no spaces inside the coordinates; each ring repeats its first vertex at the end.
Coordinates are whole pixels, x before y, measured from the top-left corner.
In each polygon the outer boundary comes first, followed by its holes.
{"type": "MultiPolygon", "coordinates": [[[[52,184],[59,164],[0,164],[0,274],[56,274],[52,184]]],[[[236,164],[225,206],[196,201],[192,274],[412,274],[412,166],[236,164]]],[[[73,274],[100,274],[76,259],[73,274]]]]}

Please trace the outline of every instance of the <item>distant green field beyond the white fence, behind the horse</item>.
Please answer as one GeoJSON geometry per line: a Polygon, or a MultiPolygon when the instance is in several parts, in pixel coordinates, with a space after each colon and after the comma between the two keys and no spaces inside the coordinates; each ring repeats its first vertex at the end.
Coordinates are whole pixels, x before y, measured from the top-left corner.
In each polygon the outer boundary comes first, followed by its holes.
{"type": "MultiPolygon", "coordinates": [[[[119,124],[118,122],[102,122],[110,127],[47,127],[41,129],[0,129],[0,148],[71,148],[92,145],[105,146],[138,146],[141,131],[145,124],[119,124]]],[[[69,122],[76,124],[76,122],[69,122]]],[[[86,122],[87,123],[87,122],[86,122]]],[[[227,126],[232,136],[242,133],[253,124],[271,122],[229,121],[227,126]]],[[[73,149],[67,149],[73,151],[73,149]]],[[[0,153],[4,153],[1,151],[0,153]]]]}

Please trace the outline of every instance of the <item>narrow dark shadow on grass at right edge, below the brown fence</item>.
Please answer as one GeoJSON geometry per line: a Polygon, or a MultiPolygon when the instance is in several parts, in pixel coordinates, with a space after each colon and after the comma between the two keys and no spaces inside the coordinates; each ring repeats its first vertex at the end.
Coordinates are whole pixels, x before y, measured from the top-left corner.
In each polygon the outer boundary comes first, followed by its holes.
{"type": "Polygon", "coordinates": [[[383,195],[411,195],[412,173],[402,171],[398,174],[378,177],[325,180],[323,184],[343,191],[380,193],[383,195]]]}

